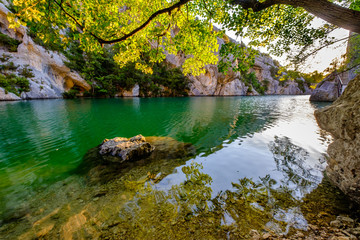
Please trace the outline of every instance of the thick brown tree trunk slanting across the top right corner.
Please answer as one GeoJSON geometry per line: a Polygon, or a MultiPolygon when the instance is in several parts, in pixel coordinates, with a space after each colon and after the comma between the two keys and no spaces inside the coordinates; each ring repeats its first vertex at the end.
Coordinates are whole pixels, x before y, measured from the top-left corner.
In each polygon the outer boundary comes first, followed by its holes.
{"type": "Polygon", "coordinates": [[[309,13],[338,27],[360,33],[360,12],[342,7],[328,0],[233,0],[233,4],[241,5],[244,9],[258,12],[276,4],[302,7],[309,13]]]}

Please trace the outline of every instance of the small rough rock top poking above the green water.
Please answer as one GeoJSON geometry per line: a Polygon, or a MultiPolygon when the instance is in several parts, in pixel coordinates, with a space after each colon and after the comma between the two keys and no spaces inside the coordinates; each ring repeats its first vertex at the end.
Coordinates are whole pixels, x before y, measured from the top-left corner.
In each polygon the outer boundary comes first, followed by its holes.
{"type": "Polygon", "coordinates": [[[116,158],[108,158],[113,162],[133,161],[148,157],[154,147],[146,142],[142,135],[137,135],[130,139],[116,137],[105,139],[100,145],[99,153],[101,155],[111,155],[116,158]]]}

